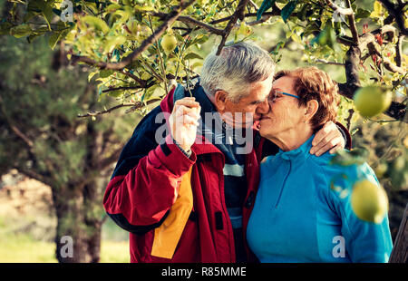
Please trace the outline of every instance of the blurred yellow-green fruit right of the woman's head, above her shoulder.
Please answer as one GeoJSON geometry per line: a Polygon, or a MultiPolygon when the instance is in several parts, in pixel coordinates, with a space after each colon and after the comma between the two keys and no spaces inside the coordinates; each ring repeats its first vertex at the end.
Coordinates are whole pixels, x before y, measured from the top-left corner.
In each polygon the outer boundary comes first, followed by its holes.
{"type": "Polygon", "coordinates": [[[384,87],[366,86],[355,92],[355,108],[366,118],[386,111],[392,100],[392,92],[384,87]]]}

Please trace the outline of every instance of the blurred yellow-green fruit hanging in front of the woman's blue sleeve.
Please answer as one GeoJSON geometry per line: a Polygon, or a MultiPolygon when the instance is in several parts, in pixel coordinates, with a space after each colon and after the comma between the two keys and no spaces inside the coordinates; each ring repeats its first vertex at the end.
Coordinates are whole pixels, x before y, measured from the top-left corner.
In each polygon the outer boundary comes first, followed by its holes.
{"type": "Polygon", "coordinates": [[[364,179],[353,187],[351,206],[357,218],[378,224],[388,211],[387,194],[382,187],[364,179]]]}

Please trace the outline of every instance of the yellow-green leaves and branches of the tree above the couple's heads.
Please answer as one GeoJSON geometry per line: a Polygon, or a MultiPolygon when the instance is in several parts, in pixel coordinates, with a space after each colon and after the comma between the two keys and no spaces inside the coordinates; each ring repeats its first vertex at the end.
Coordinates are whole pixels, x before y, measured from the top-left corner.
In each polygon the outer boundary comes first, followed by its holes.
{"type": "MultiPolygon", "coordinates": [[[[73,0],[72,21],[63,21],[70,15],[69,6],[63,4],[67,1],[9,0],[13,6],[2,20],[0,34],[25,37],[29,42],[51,34],[51,47],[63,40],[74,63],[94,66],[89,78],[99,83],[100,95],[120,102],[162,97],[174,82],[185,82],[199,73],[202,44],[215,44],[220,38],[221,48],[228,38],[254,39],[257,25],[285,23],[287,39],[301,44],[313,62],[345,63],[345,53],[358,46],[360,60],[351,60],[353,71],[346,71],[347,82],[341,87],[347,98],[361,85],[393,87],[403,81],[408,60],[401,51],[402,35],[408,33],[404,26],[407,5],[389,1],[350,4],[347,0],[347,9],[322,0],[73,0]],[[160,45],[165,34],[177,39],[173,52],[165,52],[160,45]]],[[[284,42],[272,50],[277,61],[283,48],[284,42]]],[[[401,85],[393,90],[406,94],[401,85]]],[[[405,107],[398,105],[393,117],[401,120],[405,107]]]]}

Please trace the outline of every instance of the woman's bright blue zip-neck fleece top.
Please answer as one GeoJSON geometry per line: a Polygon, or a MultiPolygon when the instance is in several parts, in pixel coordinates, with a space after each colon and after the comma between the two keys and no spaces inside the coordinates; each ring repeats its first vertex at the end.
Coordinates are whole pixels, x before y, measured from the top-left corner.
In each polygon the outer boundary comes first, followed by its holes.
{"type": "Polygon", "coordinates": [[[298,149],[269,156],[248,222],[248,246],[261,262],[387,262],[393,247],[388,217],[380,224],[355,216],[356,180],[379,185],[366,164],[330,165],[333,155],[298,149]],[[335,189],[333,189],[335,187],[335,189]]]}

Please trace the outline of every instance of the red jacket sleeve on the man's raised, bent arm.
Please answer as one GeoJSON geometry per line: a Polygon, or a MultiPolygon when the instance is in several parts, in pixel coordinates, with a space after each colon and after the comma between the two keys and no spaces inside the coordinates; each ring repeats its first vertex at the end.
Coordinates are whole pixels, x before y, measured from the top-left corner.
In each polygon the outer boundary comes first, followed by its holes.
{"type": "Polygon", "coordinates": [[[111,179],[103,206],[128,231],[160,223],[177,199],[181,177],[195,163],[174,144],[170,135],[125,175],[111,179]]]}

